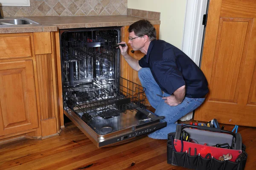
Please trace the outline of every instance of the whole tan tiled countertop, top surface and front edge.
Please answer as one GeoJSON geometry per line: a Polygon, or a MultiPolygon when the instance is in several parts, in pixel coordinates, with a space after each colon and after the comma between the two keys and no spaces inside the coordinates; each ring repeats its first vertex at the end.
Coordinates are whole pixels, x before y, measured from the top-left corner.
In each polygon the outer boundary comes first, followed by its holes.
{"type": "MultiPolygon", "coordinates": [[[[11,17],[9,17],[11,18],[11,17]]],[[[16,17],[17,18],[17,17],[16,17]]],[[[21,17],[19,17],[21,18],[21,17]]],[[[0,26],[0,34],[24,33],[24,32],[49,32],[67,28],[93,28],[108,26],[130,26],[141,20],[140,17],[128,15],[109,16],[67,16],[67,17],[22,17],[35,21],[35,25],[0,26]]],[[[160,20],[151,20],[153,25],[160,24],[160,20]]]]}

